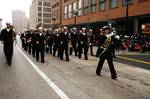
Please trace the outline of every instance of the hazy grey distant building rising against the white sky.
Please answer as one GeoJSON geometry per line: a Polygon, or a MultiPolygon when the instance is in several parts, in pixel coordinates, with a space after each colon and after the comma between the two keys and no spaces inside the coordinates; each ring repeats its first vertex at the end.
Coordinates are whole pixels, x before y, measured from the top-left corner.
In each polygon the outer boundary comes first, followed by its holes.
{"type": "Polygon", "coordinates": [[[25,28],[29,27],[29,19],[25,12],[21,10],[12,11],[12,24],[15,26],[17,33],[22,33],[25,28]]]}

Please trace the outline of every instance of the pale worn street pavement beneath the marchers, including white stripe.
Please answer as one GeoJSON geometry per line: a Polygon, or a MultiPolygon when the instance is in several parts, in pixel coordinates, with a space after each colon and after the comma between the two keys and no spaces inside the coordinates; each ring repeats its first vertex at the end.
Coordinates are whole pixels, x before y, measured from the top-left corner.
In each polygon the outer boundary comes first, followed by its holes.
{"type": "Polygon", "coordinates": [[[14,47],[12,66],[6,64],[0,44],[0,99],[149,99],[150,71],[115,62],[118,80],[110,79],[107,62],[102,76],[98,59],[70,56],[70,62],[46,54],[45,64],[14,47]],[[22,53],[23,52],[23,53],[22,53]]]}

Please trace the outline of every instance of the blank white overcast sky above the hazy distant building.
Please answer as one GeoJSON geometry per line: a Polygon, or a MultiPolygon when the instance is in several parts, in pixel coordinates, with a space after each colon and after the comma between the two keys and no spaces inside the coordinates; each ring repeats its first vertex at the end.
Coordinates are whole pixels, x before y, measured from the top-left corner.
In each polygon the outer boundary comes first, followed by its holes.
{"type": "Polygon", "coordinates": [[[0,0],[0,18],[5,22],[11,22],[12,10],[25,11],[26,16],[29,17],[29,7],[32,0],[0,0]]]}

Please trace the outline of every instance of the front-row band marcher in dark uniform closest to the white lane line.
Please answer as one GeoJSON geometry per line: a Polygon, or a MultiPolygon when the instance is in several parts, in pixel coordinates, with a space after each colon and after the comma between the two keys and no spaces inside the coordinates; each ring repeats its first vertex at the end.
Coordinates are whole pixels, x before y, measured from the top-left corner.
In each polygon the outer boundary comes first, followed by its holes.
{"type": "Polygon", "coordinates": [[[44,50],[46,38],[42,28],[40,27],[38,33],[36,34],[36,61],[39,61],[39,54],[41,56],[41,63],[44,63],[44,50]]]}

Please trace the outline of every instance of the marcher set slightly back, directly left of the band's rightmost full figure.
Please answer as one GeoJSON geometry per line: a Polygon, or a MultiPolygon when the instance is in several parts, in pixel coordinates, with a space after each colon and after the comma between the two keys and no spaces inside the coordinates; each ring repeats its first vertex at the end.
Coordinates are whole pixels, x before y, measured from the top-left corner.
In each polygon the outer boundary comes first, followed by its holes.
{"type": "Polygon", "coordinates": [[[78,33],[77,29],[73,28],[73,31],[71,32],[71,49],[70,49],[70,55],[72,55],[72,52],[75,52],[75,56],[77,56],[77,43],[78,43],[78,33]]]}

